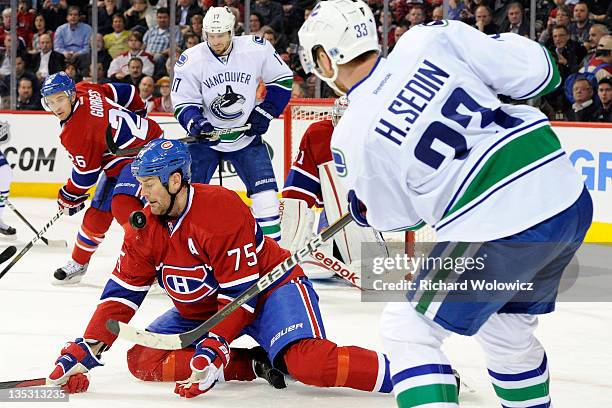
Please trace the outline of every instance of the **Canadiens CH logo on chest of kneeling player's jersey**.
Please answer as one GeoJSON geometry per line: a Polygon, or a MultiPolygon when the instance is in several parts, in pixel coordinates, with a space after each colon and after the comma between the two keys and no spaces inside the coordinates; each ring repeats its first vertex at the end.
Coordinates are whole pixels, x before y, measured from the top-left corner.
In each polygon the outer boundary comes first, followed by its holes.
{"type": "Polygon", "coordinates": [[[210,296],[218,287],[208,265],[192,267],[164,265],[162,280],[168,295],[181,303],[193,303],[210,296]]]}

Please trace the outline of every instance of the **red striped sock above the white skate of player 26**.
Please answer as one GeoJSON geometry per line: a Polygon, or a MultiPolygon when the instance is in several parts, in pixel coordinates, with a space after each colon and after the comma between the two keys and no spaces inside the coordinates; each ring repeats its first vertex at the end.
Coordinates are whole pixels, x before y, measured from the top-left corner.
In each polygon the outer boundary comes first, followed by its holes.
{"type": "Polygon", "coordinates": [[[110,212],[89,207],[77,233],[72,259],[81,265],[88,263],[98,249],[98,245],[104,240],[104,234],[112,222],[113,215],[110,212]]]}

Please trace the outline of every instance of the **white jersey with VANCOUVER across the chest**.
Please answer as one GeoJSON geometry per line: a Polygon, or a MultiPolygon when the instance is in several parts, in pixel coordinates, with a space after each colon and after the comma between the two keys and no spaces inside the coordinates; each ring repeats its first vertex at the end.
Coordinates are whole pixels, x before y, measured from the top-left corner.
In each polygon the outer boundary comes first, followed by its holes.
{"type": "MultiPolygon", "coordinates": [[[[227,129],[246,124],[257,101],[260,79],[266,87],[291,90],[293,73],[261,37],[234,37],[230,53],[217,57],[206,42],[185,50],[174,68],[172,104],[177,120],[197,107],[215,128],[227,129]],[[287,88],[288,87],[288,88],[287,88]]],[[[236,151],[247,146],[253,136],[243,133],[222,138],[213,149],[236,151]]]]}

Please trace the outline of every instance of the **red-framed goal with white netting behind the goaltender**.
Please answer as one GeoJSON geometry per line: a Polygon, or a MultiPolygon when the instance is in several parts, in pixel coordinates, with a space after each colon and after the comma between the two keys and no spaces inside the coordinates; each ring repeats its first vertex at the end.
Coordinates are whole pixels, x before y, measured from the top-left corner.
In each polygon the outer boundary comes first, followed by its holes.
{"type": "MultiPolygon", "coordinates": [[[[292,99],[283,115],[284,118],[284,172],[285,178],[295,159],[302,136],[311,123],[320,120],[331,119],[334,99],[292,99]]],[[[405,242],[405,250],[409,255],[414,254],[415,242],[435,242],[436,234],[430,227],[421,228],[418,231],[405,233],[385,233],[385,238],[390,241],[405,242]]]]}

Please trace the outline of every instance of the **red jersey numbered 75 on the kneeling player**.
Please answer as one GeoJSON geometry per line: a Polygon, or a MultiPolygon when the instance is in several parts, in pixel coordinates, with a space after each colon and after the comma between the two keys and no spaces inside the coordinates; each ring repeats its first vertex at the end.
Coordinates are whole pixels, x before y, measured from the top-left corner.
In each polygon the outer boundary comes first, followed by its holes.
{"type": "MultiPolygon", "coordinates": [[[[111,345],[115,337],[105,329],[106,320],[128,322],[156,279],[182,317],[206,320],[290,255],[264,237],[235,192],[220,186],[191,185],[186,208],[173,222],[152,215],[149,207],[144,212],[146,226],[126,232],[85,338],[111,345]]],[[[260,298],[299,276],[297,266],[260,298]]],[[[244,303],[213,332],[231,341],[255,317],[257,303],[257,297],[244,303]]]]}

